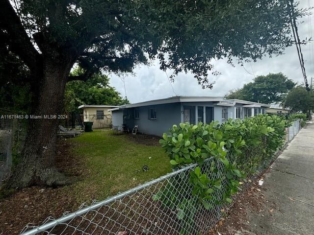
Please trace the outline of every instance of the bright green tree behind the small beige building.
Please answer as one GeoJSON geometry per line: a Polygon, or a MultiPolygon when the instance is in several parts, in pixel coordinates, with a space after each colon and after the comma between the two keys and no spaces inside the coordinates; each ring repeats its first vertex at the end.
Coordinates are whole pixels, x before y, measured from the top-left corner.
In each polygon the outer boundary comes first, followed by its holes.
{"type": "MultiPolygon", "coordinates": [[[[76,68],[71,74],[79,76],[84,71],[76,68]]],[[[78,113],[82,104],[123,105],[130,103],[121,94],[109,86],[109,78],[101,72],[93,74],[86,82],[70,81],[66,84],[64,94],[64,110],[67,113],[78,113]]]]}

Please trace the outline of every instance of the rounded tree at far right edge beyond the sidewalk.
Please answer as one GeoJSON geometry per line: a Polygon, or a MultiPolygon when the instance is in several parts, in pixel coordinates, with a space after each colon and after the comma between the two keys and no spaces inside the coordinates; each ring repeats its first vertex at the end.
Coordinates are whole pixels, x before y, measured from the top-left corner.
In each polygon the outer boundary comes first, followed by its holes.
{"type": "Polygon", "coordinates": [[[314,94],[308,92],[303,86],[295,87],[288,93],[284,106],[293,112],[308,114],[314,109],[314,94]]]}

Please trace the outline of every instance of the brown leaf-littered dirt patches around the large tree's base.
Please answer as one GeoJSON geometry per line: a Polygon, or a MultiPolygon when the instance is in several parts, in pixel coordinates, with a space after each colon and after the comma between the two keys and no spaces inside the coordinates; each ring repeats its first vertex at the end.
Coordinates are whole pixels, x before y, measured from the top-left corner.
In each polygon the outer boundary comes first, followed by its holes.
{"type": "MultiPolygon", "coordinates": [[[[56,165],[60,172],[75,179],[88,174],[82,161],[71,153],[75,144],[59,140],[56,165]]],[[[38,225],[48,216],[55,218],[72,211],[75,197],[65,188],[31,187],[0,200],[0,235],[19,234],[27,223],[38,225]]]]}

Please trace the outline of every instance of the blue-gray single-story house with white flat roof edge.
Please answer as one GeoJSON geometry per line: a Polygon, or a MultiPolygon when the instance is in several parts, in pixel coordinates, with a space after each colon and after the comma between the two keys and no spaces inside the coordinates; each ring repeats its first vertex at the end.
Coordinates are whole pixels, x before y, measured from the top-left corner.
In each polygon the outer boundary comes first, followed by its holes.
{"type": "Polygon", "coordinates": [[[269,105],[239,99],[225,100],[215,96],[173,96],[122,105],[109,109],[113,126],[131,130],[138,125],[140,133],[161,136],[180,122],[224,122],[228,118],[253,117],[265,114],[269,105]]]}

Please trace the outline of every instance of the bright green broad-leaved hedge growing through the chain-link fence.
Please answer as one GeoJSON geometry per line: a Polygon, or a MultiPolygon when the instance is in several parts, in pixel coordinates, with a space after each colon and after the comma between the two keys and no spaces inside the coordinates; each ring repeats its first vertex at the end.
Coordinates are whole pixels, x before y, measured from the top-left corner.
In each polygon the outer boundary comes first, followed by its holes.
{"type": "MultiPolygon", "coordinates": [[[[170,157],[170,164],[175,169],[192,163],[199,166],[190,172],[188,184],[180,184],[184,181],[177,179],[160,190],[155,199],[172,210],[179,205],[183,210],[177,216],[179,219],[187,216],[184,214],[185,206],[182,207],[186,203],[196,208],[202,205],[208,210],[213,204],[231,203],[232,195],[238,192],[247,176],[257,173],[282,145],[287,126],[285,119],[268,115],[244,120],[230,118],[223,124],[213,121],[209,124],[173,125],[171,135],[163,134],[163,139],[159,141],[170,157]],[[258,149],[259,154],[246,155],[246,151],[251,149],[258,149]],[[204,161],[210,162],[211,175],[202,172],[204,161]],[[186,193],[186,187],[192,187],[192,195],[186,193]],[[182,198],[170,196],[175,192],[182,198]]],[[[188,216],[193,221],[193,217],[188,216]]],[[[186,234],[184,226],[182,234],[186,234]]]]}

